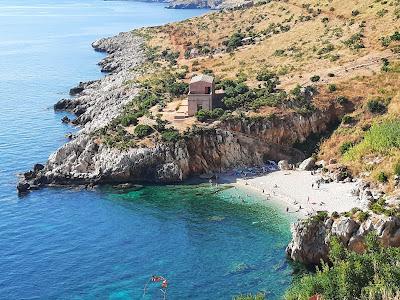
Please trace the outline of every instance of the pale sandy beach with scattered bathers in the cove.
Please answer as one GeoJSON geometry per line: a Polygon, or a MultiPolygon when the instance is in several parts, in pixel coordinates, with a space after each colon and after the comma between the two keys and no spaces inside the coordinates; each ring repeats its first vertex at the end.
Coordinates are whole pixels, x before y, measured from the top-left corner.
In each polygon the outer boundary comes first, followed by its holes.
{"type": "Polygon", "coordinates": [[[320,175],[311,175],[309,171],[276,171],[248,179],[229,175],[221,179],[229,180],[237,187],[258,191],[266,200],[278,201],[290,213],[297,212],[302,216],[321,210],[346,212],[360,206],[358,197],[351,194],[357,183],[323,183],[317,188],[315,182],[319,178],[320,175]]]}

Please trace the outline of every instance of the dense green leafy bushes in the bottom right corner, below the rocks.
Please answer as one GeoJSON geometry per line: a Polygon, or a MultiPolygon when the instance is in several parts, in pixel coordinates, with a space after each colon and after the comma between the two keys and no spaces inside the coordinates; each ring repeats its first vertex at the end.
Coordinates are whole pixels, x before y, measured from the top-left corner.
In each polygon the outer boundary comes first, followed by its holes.
{"type": "Polygon", "coordinates": [[[400,248],[382,247],[376,236],[367,236],[367,251],[350,252],[338,239],[331,241],[332,265],[301,277],[285,295],[287,300],[395,299],[400,297],[400,248]]]}

